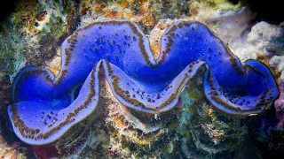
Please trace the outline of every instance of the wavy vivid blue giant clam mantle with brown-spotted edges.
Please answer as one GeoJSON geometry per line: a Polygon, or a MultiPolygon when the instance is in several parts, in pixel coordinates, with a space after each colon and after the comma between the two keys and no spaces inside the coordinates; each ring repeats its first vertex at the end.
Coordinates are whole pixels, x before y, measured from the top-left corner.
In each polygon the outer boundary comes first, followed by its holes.
{"type": "Polygon", "coordinates": [[[177,105],[188,80],[206,68],[204,93],[218,110],[248,116],[271,106],[279,94],[269,69],[255,60],[241,64],[199,22],[179,21],[162,35],[157,60],[141,29],[127,20],[78,28],[62,43],[57,77],[26,67],[14,79],[8,107],[14,132],[29,144],[58,140],[88,117],[99,102],[104,72],[119,102],[138,114],[163,114],[177,105]]]}

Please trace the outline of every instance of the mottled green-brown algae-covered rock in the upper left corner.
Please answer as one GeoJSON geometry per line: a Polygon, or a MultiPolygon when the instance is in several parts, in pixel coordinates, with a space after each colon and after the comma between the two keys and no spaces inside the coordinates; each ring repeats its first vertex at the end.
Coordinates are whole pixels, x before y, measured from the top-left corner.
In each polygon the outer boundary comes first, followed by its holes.
{"type": "MultiPolygon", "coordinates": [[[[28,0],[0,23],[0,70],[13,77],[26,63],[42,65],[66,35],[73,1],[28,0]]],[[[12,79],[12,78],[11,78],[12,79]]]]}

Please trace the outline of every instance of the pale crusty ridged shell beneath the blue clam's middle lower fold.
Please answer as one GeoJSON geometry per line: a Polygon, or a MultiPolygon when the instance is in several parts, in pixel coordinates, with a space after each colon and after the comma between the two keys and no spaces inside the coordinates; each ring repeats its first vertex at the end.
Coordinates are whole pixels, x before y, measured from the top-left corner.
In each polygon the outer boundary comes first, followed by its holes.
{"type": "MultiPolygon", "coordinates": [[[[105,145],[110,156],[158,157],[164,152],[177,128],[176,110],[167,115],[145,116],[140,112],[127,109],[112,95],[106,85],[108,111],[106,125],[109,142],[105,145]]],[[[105,91],[104,91],[105,92],[105,91]]]]}

